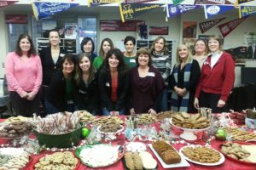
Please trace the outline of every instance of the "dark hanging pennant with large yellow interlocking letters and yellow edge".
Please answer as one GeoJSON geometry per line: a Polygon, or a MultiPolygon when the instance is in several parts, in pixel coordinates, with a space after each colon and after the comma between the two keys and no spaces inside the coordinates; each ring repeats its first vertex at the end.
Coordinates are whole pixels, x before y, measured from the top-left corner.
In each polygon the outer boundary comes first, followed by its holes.
{"type": "Polygon", "coordinates": [[[159,3],[120,3],[119,11],[122,21],[131,20],[140,14],[145,14],[154,8],[160,8],[159,3]]]}

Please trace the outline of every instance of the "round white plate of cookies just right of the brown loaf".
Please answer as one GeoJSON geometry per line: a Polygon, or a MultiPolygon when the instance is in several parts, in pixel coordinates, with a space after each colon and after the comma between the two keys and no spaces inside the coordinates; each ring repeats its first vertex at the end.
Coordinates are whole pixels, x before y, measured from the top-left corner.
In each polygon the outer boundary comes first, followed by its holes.
{"type": "Polygon", "coordinates": [[[183,146],[179,153],[185,157],[186,160],[195,164],[204,166],[216,166],[225,161],[225,157],[218,150],[202,145],[183,146]]]}

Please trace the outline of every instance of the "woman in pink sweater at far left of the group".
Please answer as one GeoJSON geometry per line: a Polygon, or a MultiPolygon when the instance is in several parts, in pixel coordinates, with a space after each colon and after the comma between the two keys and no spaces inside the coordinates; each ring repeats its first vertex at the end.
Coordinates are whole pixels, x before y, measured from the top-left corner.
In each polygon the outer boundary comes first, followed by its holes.
{"type": "Polygon", "coordinates": [[[42,65],[27,34],[21,34],[15,52],[7,55],[5,63],[9,97],[20,116],[39,114],[38,90],[42,83],[42,65]]]}

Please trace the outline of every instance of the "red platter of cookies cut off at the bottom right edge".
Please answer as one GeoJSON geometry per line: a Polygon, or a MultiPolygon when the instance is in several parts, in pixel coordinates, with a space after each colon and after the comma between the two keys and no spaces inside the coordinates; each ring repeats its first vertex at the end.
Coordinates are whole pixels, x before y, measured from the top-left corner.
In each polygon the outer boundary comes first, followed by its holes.
{"type": "Polygon", "coordinates": [[[220,150],[231,161],[256,165],[256,144],[246,142],[225,142],[220,150]]]}

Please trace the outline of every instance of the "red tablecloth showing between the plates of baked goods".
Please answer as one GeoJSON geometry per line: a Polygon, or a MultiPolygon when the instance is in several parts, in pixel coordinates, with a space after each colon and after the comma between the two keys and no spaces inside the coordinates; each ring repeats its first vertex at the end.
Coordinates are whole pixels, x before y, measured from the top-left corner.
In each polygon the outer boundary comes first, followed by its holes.
{"type": "MultiPolygon", "coordinates": [[[[0,120],[1,122],[1,120],[0,120]]],[[[159,123],[154,124],[157,129],[159,128],[159,123]]],[[[114,142],[114,141],[113,141],[114,142]]],[[[115,143],[123,144],[125,142],[125,136],[124,134],[121,134],[118,139],[115,141],[115,143]]],[[[219,150],[219,145],[222,144],[223,141],[218,141],[218,140],[212,140],[211,146],[212,148],[219,150]]],[[[3,140],[0,139],[0,144],[3,144],[3,140]]],[[[173,144],[173,146],[179,150],[181,147],[183,147],[185,144],[173,144]]],[[[154,153],[152,150],[148,148],[148,151],[152,154],[154,159],[158,163],[158,169],[162,170],[165,169],[164,167],[161,166],[160,161],[158,161],[157,157],[154,156],[154,153]]],[[[45,154],[45,153],[44,153],[45,154]]],[[[31,161],[27,164],[27,166],[24,168],[24,170],[33,170],[33,165],[37,163],[38,158],[41,157],[42,155],[38,156],[32,156],[31,161]]],[[[214,166],[214,167],[208,167],[208,166],[201,166],[197,165],[194,163],[190,163],[190,167],[178,167],[178,168],[172,168],[173,170],[195,170],[195,169],[201,169],[201,170],[256,170],[256,166],[250,165],[250,164],[245,164],[245,163],[239,163],[236,161],[231,161],[228,158],[225,158],[225,161],[223,164],[214,166]]],[[[109,167],[101,167],[101,168],[90,168],[86,167],[84,164],[80,163],[79,166],[77,167],[79,170],[123,170],[124,166],[122,161],[118,161],[114,163],[113,165],[109,167]]],[[[171,168],[170,168],[171,169],[171,168]]]]}

